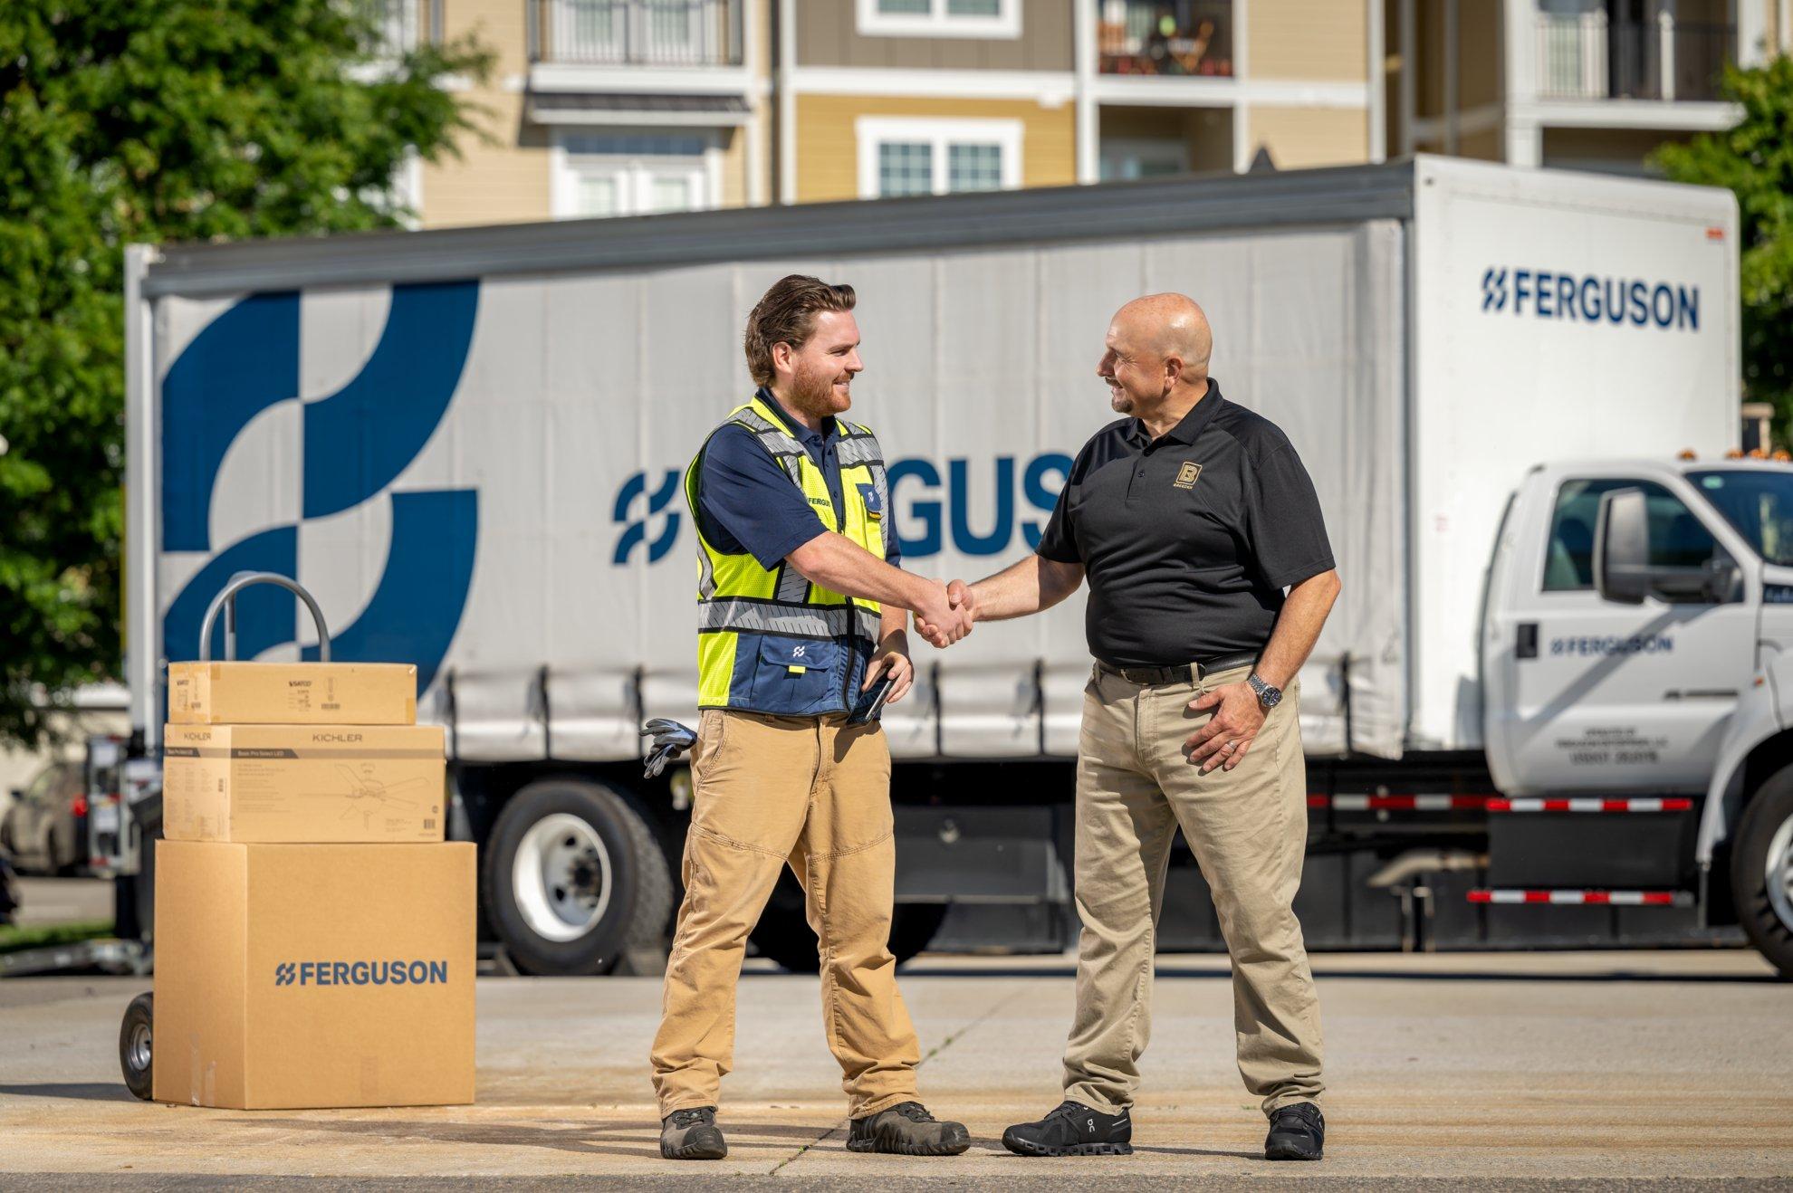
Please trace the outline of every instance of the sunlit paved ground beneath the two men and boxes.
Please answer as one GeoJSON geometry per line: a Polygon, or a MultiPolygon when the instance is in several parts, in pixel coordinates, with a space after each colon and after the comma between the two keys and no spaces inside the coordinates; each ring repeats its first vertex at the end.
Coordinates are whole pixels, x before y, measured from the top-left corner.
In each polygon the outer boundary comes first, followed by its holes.
{"type": "Polygon", "coordinates": [[[1219,957],[1158,958],[1135,1154],[1061,1161],[999,1137],[1060,1098],[1067,958],[905,971],[922,1094],[972,1129],[954,1159],[846,1152],[816,980],[746,974],[721,1114],[732,1152],[710,1164],[658,1157],[656,980],[481,980],[472,1107],[264,1112],[124,1091],[118,1016],[145,980],[9,980],[0,1188],[1793,1188],[1793,987],[1752,953],[1327,955],[1316,971],[1327,1159],[1275,1166],[1232,1064],[1219,957]]]}

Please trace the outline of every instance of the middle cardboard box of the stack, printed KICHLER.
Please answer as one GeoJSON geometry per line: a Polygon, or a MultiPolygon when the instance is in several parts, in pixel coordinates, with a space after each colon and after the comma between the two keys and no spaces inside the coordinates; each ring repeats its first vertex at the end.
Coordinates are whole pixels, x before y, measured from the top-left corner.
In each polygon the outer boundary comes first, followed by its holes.
{"type": "Polygon", "coordinates": [[[441,725],[169,725],[163,835],[439,842],[441,725]]]}

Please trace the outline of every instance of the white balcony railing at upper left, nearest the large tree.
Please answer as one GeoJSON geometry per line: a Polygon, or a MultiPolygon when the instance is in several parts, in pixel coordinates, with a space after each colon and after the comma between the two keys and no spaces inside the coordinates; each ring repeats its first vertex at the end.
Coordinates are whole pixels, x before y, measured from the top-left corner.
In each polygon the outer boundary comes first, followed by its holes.
{"type": "Polygon", "coordinates": [[[527,0],[529,57],[577,66],[739,66],[742,0],[527,0]]]}

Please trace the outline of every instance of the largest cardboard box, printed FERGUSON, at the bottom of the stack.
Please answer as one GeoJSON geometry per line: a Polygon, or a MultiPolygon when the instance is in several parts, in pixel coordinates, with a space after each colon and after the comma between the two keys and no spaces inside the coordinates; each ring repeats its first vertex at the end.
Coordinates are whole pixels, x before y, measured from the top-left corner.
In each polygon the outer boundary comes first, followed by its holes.
{"type": "Polygon", "coordinates": [[[156,842],[158,1102],[473,1100],[473,845],[156,842]]]}

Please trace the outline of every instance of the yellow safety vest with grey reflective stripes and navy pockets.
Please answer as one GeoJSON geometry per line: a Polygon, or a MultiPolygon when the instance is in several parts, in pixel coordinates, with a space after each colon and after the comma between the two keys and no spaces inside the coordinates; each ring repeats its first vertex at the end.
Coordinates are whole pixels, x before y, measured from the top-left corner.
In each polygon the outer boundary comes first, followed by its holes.
{"type": "MultiPolygon", "coordinates": [[[[762,396],[735,407],[715,430],[730,423],[753,432],[823,527],[884,559],[895,534],[889,485],[868,428],[839,419],[837,516],[827,476],[762,396]]],[[[685,469],[685,502],[697,527],[697,706],[784,717],[850,711],[879,641],[879,602],[810,584],[787,561],[767,570],[748,552],[717,550],[697,518],[701,464],[699,450],[685,469]]]]}

